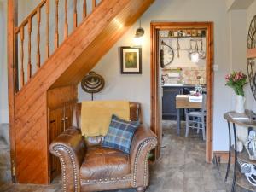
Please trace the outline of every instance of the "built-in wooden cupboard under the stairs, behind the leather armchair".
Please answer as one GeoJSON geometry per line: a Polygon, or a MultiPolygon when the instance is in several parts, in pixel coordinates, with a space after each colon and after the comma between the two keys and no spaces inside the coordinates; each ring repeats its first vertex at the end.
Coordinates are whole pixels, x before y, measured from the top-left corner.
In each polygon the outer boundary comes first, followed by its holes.
{"type": "MultiPolygon", "coordinates": [[[[63,131],[72,126],[73,109],[77,103],[77,86],[58,87],[47,92],[48,107],[48,144],[52,143],[63,131]]],[[[49,182],[61,174],[59,158],[49,153],[49,182]]]]}

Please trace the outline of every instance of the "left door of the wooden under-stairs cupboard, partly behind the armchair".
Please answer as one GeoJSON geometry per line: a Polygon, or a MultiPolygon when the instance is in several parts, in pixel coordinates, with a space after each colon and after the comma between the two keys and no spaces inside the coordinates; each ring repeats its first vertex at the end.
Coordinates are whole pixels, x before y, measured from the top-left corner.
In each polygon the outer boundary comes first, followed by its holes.
{"type": "MultiPolygon", "coordinates": [[[[57,108],[49,110],[49,143],[51,143],[55,137],[64,131],[64,108],[57,108]]],[[[50,163],[50,178],[54,178],[61,173],[61,164],[59,158],[53,154],[49,154],[50,163]]]]}

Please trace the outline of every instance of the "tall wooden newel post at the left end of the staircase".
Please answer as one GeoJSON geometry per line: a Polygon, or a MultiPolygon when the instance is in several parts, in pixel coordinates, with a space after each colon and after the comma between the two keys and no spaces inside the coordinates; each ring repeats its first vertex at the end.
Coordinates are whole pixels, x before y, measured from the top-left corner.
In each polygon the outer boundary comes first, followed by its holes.
{"type": "Polygon", "coordinates": [[[9,139],[11,156],[11,174],[13,183],[16,182],[15,172],[15,93],[19,90],[17,38],[15,26],[17,25],[17,0],[8,0],[8,94],[9,94],[9,139]]]}

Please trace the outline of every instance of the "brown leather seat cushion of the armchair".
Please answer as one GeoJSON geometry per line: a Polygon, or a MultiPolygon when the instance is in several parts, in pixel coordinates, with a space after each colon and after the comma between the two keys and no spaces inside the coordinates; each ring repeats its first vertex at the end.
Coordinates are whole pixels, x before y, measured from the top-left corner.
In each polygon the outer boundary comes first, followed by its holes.
{"type": "Polygon", "coordinates": [[[128,154],[113,148],[91,147],[80,173],[83,180],[123,177],[131,174],[131,160],[128,154]]]}

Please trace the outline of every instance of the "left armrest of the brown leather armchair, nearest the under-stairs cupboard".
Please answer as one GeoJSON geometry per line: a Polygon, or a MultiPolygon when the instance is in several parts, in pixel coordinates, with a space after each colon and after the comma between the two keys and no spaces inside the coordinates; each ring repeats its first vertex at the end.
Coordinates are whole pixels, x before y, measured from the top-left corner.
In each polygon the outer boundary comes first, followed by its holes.
{"type": "Polygon", "coordinates": [[[63,191],[80,191],[80,166],[86,151],[81,131],[67,129],[49,145],[51,154],[60,158],[63,191]]]}

